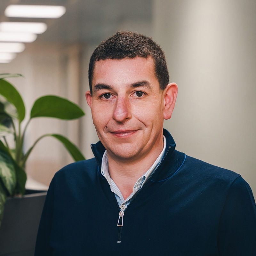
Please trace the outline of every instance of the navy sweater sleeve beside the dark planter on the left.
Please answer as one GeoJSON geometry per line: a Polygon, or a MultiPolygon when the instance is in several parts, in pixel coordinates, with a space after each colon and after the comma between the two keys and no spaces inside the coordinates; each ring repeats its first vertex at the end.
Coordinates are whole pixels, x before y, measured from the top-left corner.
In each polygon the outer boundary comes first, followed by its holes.
{"type": "Polygon", "coordinates": [[[39,223],[39,228],[36,238],[35,256],[50,256],[52,255],[50,248],[50,235],[52,229],[53,217],[53,201],[54,201],[54,185],[53,180],[47,191],[44,208],[39,223]]]}

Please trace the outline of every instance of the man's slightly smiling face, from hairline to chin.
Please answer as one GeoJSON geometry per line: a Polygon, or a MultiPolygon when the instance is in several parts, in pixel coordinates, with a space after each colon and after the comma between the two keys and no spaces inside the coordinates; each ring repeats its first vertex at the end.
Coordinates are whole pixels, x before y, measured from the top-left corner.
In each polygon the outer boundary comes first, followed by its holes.
{"type": "Polygon", "coordinates": [[[92,92],[86,99],[109,157],[139,161],[162,150],[165,90],[159,88],[152,58],[97,61],[92,92]]]}

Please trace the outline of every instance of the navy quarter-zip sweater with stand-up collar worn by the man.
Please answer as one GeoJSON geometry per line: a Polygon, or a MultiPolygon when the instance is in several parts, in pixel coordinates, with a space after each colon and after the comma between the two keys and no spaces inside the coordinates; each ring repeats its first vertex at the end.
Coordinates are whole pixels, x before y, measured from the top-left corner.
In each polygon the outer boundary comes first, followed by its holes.
{"type": "Polygon", "coordinates": [[[36,256],[256,255],[256,207],[251,188],[232,171],[176,151],[164,130],[165,156],[124,211],[95,158],[57,172],[49,187],[36,256]],[[117,240],[121,243],[117,243],[117,240]]]}

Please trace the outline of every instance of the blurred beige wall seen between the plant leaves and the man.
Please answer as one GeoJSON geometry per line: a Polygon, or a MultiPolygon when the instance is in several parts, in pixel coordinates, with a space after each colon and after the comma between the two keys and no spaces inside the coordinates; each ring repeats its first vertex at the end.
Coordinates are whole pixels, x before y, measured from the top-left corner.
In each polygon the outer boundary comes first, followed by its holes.
{"type": "MultiPolygon", "coordinates": [[[[58,95],[80,104],[80,51],[86,47],[61,44],[27,44],[11,63],[1,64],[0,73],[20,73],[24,78],[10,78],[26,105],[26,120],[37,98],[47,94],[58,95]],[[83,49],[82,49],[83,48],[83,49]]],[[[84,117],[74,121],[55,118],[31,120],[25,134],[27,150],[37,138],[46,133],[67,136],[81,148],[81,124],[84,117]]],[[[24,126],[24,125],[23,125],[24,126]]],[[[28,158],[26,171],[32,178],[49,185],[54,173],[73,162],[63,145],[52,137],[38,142],[28,158]]]]}

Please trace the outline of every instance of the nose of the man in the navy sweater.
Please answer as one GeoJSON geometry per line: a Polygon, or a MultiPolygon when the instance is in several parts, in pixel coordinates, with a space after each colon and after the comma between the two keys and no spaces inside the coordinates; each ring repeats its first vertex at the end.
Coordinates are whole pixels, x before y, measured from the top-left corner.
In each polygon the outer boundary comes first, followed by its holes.
{"type": "Polygon", "coordinates": [[[113,111],[113,118],[116,122],[124,122],[131,118],[131,106],[128,99],[125,97],[117,98],[113,111]]]}

